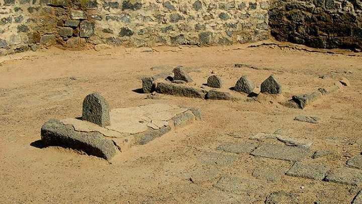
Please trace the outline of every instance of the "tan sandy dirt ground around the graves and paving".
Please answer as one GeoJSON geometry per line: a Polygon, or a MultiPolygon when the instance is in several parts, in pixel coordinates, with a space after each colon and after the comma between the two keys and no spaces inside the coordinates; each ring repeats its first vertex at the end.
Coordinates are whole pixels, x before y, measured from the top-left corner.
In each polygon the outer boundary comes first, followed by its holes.
{"type": "Polygon", "coordinates": [[[346,167],[346,161],[361,152],[362,56],[248,46],[53,48],[2,57],[0,203],[264,203],[270,193],[281,190],[286,203],[350,203],[358,186],[288,176],[285,171],[293,162],[227,153],[217,147],[287,129],[291,137],[313,142],[306,161],[328,169],[346,167]],[[235,63],[253,68],[238,68],[235,63]],[[147,99],[147,94],[138,93],[141,76],[170,71],[176,65],[195,68],[191,76],[205,82],[212,72],[217,73],[225,86],[246,74],[254,81],[255,92],[273,73],[283,85],[285,99],[331,85],[339,77],[346,77],[351,86],[323,96],[304,110],[273,100],[246,101],[242,94],[245,100],[224,101],[161,94],[147,99]],[[186,105],[200,108],[203,120],[132,147],[111,162],[69,149],[40,148],[36,141],[42,124],[51,118],[80,116],[84,96],[94,91],[105,96],[112,108],[186,105]],[[293,120],[297,115],[321,120],[302,123],[293,120]],[[310,158],[317,150],[334,153],[310,158]],[[205,162],[210,153],[226,159],[205,162]],[[275,181],[253,174],[256,168],[273,166],[282,169],[275,181]],[[217,182],[225,175],[244,179],[248,190],[220,187],[217,182]]]}

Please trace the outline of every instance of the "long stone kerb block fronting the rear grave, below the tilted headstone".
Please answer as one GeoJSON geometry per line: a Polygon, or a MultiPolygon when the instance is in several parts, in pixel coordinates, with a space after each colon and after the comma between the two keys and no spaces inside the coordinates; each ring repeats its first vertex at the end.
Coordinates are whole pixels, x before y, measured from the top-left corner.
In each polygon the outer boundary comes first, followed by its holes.
{"type": "Polygon", "coordinates": [[[170,82],[156,82],[155,90],[157,93],[197,98],[205,98],[207,93],[206,90],[170,82]]]}

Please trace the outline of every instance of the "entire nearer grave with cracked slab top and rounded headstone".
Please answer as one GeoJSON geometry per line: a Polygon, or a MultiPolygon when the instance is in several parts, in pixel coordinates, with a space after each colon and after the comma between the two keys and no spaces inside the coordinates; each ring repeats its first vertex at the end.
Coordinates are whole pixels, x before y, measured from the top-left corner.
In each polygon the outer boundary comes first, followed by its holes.
{"type": "Polygon", "coordinates": [[[81,119],[51,119],[41,128],[44,146],[60,146],[110,160],[119,151],[143,145],[174,128],[201,120],[200,110],[167,104],[110,110],[106,99],[91,93],[81,119]]]}

